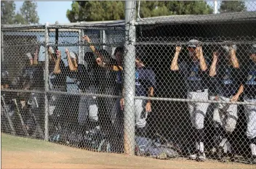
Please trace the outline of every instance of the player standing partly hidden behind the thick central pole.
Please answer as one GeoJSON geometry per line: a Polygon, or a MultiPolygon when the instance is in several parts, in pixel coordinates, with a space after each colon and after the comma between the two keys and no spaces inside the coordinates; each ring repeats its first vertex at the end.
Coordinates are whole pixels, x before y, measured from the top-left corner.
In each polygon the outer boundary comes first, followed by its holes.
{"type": "MultiPolygon", "coordinates": [[[[156,87],[155,73],[150,67],[145,67],[140,58],[135,59],[135,96],[153,97],[153,90],[156,87]]],[[[124,97],[124,89],[122,92],[124,97]]],[[[121,110],[124,110],[124,98],[120,100],[121,110]]],[[[135,135],[146,137],[147,117],[151,112],[151,99],[135,99],[135,135]]]]}

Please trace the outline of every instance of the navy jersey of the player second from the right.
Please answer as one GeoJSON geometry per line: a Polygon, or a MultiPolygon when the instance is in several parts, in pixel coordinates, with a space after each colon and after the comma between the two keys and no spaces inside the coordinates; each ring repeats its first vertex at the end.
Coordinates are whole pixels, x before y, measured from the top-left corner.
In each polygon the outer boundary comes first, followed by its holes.
{"type": "Polygon", "coordinates": [[[217,94],[230,97],[236,94],[240,86],[239,69],[228,65],[228,62],[219,62],[217,65],[217,94]]]}

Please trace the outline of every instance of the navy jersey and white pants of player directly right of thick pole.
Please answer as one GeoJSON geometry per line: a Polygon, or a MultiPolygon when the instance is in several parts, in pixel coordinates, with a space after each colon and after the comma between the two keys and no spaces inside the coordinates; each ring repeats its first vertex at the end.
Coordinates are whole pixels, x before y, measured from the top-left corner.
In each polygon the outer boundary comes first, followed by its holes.
{"type": "MultiPolygon", "coordinates": [[[[151,68],[136,68],[135,72],[135,96],[148,96],[150,87],[156,87],[155,73],[151,68]]],[[[135,123],[136,135],[145,136],[147,133],[147,117],[148,112],[145,111],[145,105],[148,100],[135,99],[135,123]]]]}

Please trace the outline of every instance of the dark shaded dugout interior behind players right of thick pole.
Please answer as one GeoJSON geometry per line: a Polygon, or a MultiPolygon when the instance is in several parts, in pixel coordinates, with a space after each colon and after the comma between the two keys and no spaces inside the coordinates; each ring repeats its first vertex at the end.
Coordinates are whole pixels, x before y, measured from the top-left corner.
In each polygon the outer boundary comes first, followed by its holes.
{"type": "MultiPolygon", "coordinates": [[[[175,54],[175,44],[187,42],[193,38],[207,42],[203,45],[204,57],[211,60],[212,51],[217,47],[216,42],[233,41],[237,43],[236,55],[240,65],[244,65],[248,59],[246,53],[249,47],[248,42],[255,42],[255,28],[256,22],[252,20],[137,25],[136,51],[137,54],[142,55],[145,65],[151,67],[156,73],[155,97],[186,98],[185,83],[182,77],[170,70],[175,54]]],[[[186,57],[188,54],[183,45],[179,59],[186,57]]],[[[240,101],[243,100],[240,99],[240,101]]],[[[160,133],[185,149],[191,147],[194,128],[191,127],[186,102],[153,101],[152,109],[153,111],[148,115],[149,136],[154,137],[155,133],[160,133]]],[[[247,155],[249,154],[249,144],[245,133],[247,123],[244,107],[239,105],[238,110],[239,119],[236,130],[233,132],[235,140],[233,148],[237,154],[247,155]]],[[[209,113],[207,112],[207,118],[204,120],[204,131],[206,132],[204,145],[207,151],[212,148],[212,131],[214,129],[208,118],[209,113]]]]}

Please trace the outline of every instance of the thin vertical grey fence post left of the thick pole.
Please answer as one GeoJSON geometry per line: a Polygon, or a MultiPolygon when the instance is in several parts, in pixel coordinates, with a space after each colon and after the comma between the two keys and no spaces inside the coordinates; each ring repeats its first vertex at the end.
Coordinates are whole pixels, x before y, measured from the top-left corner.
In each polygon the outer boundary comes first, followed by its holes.
{"type": "Polygon", "coordinates": [[[45,24],[45,74],[44,74],[44,140],[49,141],[49,128],[48,128],[48,121],[49,121],[49,107],[48,107],[48,91],[49,91],[49,58],[47,52],[47,45],[49,44],[49,32],[48,32],[48,25],[47,22],[45,24]]]}

